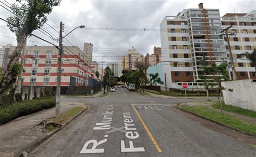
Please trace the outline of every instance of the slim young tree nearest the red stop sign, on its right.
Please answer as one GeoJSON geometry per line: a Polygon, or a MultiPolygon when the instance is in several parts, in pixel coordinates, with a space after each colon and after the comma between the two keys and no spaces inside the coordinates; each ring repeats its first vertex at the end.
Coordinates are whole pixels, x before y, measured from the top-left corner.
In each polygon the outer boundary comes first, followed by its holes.
{"type": "Polygon", "coordinates": [[[205,87],[205,90],[206,90],[207,101],[209,101],[209,87],[210,87],[211,83],[213,82],[212,77],[209,76],[209,75],[211,75],[214,70],[213,70],[213,67],[207,65],[205,56],[200,61],[200,64],[201,64],[202,69],[203,69],[203,74],[199,75],[199,79],[204,81],[203,84],[204,84],[204,87],[205,87]]]}

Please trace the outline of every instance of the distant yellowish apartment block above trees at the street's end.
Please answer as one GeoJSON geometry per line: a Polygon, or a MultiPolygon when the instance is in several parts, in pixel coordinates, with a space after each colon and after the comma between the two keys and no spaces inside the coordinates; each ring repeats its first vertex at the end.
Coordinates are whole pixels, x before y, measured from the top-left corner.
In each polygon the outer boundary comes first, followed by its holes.
{"type": "Polygon", "coordinates": [[[122,56],[122,70],[136,70],[138,63],[145,64],[145,56],[129,49],[129,53],[122,56]]]}

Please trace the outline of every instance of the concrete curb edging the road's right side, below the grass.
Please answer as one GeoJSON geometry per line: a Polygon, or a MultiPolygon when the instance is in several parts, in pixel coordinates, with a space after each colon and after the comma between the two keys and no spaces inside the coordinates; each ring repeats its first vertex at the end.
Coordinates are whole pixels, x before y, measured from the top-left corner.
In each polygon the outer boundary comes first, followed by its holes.
{"type": "Polygon", "coordinates": [[[226,124],[224,124],[224,123],[220,123],[220,122],[217,122],[217,121],[215,121],[215,120],[208,119],[208,118],[206,118],[206,117],[204,117],[204,116],[197,115],[196,113],[193,113],[193,112],[190,112],[190,111],[181,109],[181,108],[179,107],[179,105],[178,105],[178,109],[180,109],[180,110],[182,110],[182,111],[185,111],[185,112],[188,112],[188,113],[191,113],[192,115],[195,115],[195,116],[197,116],[197,117],[200,117],[200,118],[209,120],[209,121],[211,121],[211,122],[213,122],[213,123],[216,123],[216,124],[218,124],[218,125],[227,127],[228,129],[237,131],[237,132],[242,133],[242,134],[250,135],[251,137],[256,138],[256,134],[252,134],[252,133],[250,133],[250,132],[245,132],[245,131],[242,131],[242,130],[240,130],[240,129],[237,129],[237,128],[233,127],[233,126],[226,125],[226,124]]]}

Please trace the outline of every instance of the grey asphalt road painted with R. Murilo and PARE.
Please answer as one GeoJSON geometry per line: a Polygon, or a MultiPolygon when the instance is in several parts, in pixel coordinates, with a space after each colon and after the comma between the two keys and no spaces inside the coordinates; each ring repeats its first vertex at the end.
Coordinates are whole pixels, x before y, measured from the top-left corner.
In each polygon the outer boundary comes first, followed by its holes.
{"type": "MultiPolygon", "coordinates": [[[[66,98],[90,110],[29,156],[255,156],[256,149],[177,112],[184,99],[119,88],[100,98],[66,98]]],[[[190,99],[190,101],[205,101],[190,99]]]]}

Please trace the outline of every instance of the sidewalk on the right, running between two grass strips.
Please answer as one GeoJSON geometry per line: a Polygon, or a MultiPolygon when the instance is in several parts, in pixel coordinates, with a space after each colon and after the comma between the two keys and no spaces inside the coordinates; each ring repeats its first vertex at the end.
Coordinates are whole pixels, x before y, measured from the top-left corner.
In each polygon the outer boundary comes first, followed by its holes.
{"type": "MultiPolygon", "coordinates": [[[[213,110],[213,111],[218,111],[220,112],[220,109],[214,109],[212,108],[212,104],[214,102],[188,102],[187,105],[188,106],[206,106],[208,109],[213,110]]],[[[182,103],[180,105],[186,105],[186,103],[182,103]]],[[[248,117],[248,116],[244,116],[244,115],[240,115],[238,113],[234,113],[234,112],[228,112],[228,111],[224,111],[223,110],[224,115],[230,115],[233,116],[235,118],[241,119],[244,122],[256,125],[256,119],[252,118],[252,117],[248,117]]]]}

